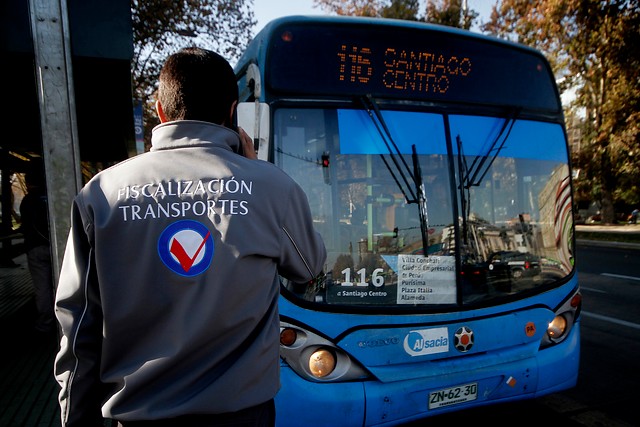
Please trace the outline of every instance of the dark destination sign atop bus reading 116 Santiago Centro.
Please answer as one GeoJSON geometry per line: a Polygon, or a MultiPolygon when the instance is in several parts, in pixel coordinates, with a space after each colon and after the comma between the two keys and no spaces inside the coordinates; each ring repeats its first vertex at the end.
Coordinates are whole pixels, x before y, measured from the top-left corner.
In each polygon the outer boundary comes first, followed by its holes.
{"type": "Polygon", "coordinates": [[[273,93],[489,103],[560,111],[546,60],[531,49],[428,26],[289,23],[269,42],[273,93]]]}

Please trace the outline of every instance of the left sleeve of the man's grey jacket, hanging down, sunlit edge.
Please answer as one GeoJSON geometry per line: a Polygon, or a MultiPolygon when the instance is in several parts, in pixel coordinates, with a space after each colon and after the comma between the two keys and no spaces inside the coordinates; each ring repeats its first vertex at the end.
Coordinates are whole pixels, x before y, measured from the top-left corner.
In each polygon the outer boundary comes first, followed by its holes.
{"type": "Polygon", "coordinates": [[[78,200],[71,212],[71,229],[56,291],[56,317],[62,337],[54,373],[61,387],[58,401],[63,427],[103,425],[102,309],[90,227],[83,221],[78,200]]]}

